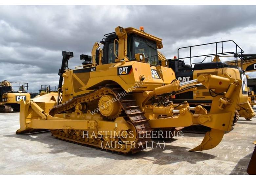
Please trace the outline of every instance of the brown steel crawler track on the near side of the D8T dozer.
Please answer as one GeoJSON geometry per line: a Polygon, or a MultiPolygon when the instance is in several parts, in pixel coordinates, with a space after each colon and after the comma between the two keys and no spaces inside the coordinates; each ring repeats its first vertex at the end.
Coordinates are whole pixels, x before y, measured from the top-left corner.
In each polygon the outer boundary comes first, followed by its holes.
{"type": "MultiPolygon", "coordinates": [[[[101,96],[111,94],[117,97],[119,93],[123,93],[123,89],[120,87],[115,87],[113,85],[106,85],[105,87],[99,87],[98,90],[94,90],[92,93],[84,94],[81,96],[74,97],[68,101],[54,106],[50,115],[54,116],[57,113],[62,113],[69,111],[75,107],[77,103],[89,103],[95,100],[98,100],[101,96]]],[[[117,99],[117,98],[116,98],[117,99]]],[[[118,154],[128,154],[136,153],[146,148],[146,143],[152,141],[151,138],[148,138],[148,135],[151,134],[152,129],[150,128],[148,119],[144,116],[144,112],[140,110],[139,105],[136,103],[136,99],[133,99],[132,94],[127,94],[123,97],[117,99],[120,103],[122,109],[122,117],[128,122],[130,122],[136,129],[136,145],[138,148],[108,148],[105,147],[106,151],[117,152],[118,154]]],[[[101,143],[103,139],[87,139],[81,137],[81,131],[74,133],[78,130],[73,130],[65,132],[65,130],[52,130],[52,135],[56,138],[74,142],[81,145],[91,146],[102,149],[101,143]],[[68,133],[68,134],[67,134],[68,133]]],[[[117,143],[117,142],[116,142],[117,143]]]]}

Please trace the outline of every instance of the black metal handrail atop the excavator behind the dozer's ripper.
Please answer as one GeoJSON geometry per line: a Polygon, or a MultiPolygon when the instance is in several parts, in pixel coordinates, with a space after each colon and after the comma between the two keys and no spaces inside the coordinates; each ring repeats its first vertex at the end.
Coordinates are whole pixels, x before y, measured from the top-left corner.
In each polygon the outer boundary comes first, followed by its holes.
{"type": "MultiPolygon", "coordinates": [[[[203,57],[203,56],[206,56],[206,57],[211,57],[211,56],[218,56],[218,55],[225,55],[225,54],[235,54],[236,56],[234,57],[235,58],[235,63],[238,64],[238,59],[237,57],[241,57],[240,59],[242,60],[241,62],[241,66],[243,68],[243,56],[242,56],[242,53],[244,53],[243,49],[237,45],[233,40],[227,40],[227,41],[219,41],[219,42],[214,42],[214,43],[206,43],[206,44],[201,44],[201,45],[191,45],[191,46],[186,46],[186,47],[180,47],[178,49],[178,59],[188,59],[190,58],[190,66],[192,67],[193,64],[195,63],[192,63],[192,58],[196,58],[196,57],[203,57]],[[236,51],[235,52],[224,52],[223,51],[223,44],[225,42],[232,42],[236,45],[236,51]],[[218,44],[221,43],[221,52],[218,52],[218,44]],[[198,46],[204,46],[204,45],[212,45],[212,44],[215,44],[215,48],[216,48],[216,52],[215,53],[211,53],[211,54],[205,54],[205,55],[198,55],[198,56],[191,56],[191,47],[198,47],[198,46]],[[184,49],[184,48],[189,48],[189,51],[190,51],[190,56],[188,57],[180,57],[180,49],[184,49]],[[240,55],[240,56],[239,56],[240,55]]],[[[203,61],[206,59],[206,57],[203,59],[203,61]]],[[[183,60],[184,61],[184,60],[183,60]]],[[[201,63],[203,63],[203,61],[201,63]]],[[[178,62],[179,63],[179,62],[178,62]]]]}

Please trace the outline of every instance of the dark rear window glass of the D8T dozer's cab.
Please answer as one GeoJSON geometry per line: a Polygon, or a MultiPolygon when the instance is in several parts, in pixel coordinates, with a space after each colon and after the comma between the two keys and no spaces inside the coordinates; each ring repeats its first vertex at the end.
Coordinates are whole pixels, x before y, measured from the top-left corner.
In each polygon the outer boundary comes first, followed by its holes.
{"type": "Polygon", "coordinates": [[[144,54],[145,58],[148,58],[148,63],[151,65],[158,65],[157,46],[155,43],[151,43],[144,39],[135,39],[135,54],[144,54]]]}

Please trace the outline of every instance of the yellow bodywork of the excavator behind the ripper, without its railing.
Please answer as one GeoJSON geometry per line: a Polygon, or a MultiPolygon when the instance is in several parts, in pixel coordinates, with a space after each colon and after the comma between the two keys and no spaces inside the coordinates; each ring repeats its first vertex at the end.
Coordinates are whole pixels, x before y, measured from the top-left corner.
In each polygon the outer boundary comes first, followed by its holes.
{"type": "MultiPolygon", "coordinates": [[[[221,62],[220,58],[215,56],[212,62],[221,62]]],[[[225,62],[226,63],[226,62],[225,62]]],[[[231,62],[229,62],[231,63],[231,62]]],[[[202,63],[203,65],[203,63],[202,63]]],[[[230,64],[234,65],[234,64],[230,64]]],[[[240,63],[241,65],[241,63],[240,63]]],[[[247,87],[247,76],[241,70],[241,67],[236,66],[237,68],[230,68],[230,67],[223,67],[223,68],[205,68],[193,71],[187,71],[183,73],[183,76],[177,77],[178,80],[181,82],[186,82],[188,80],[197,79],[198,76],[201,74],[212,74],[216,76],[222,76],[223,74],[228,74],[230,77],[234,79],[242,80],[241,86],[241,95],[239,97],[239,103],[237,106],[237,113],[240,117],[244,117],[245,119],[249,120],[255,116],[255,113],[251,107],[252,102],[251,98],[248,97],[248,87],[247,87]],[[247,99],[247,101],[245,101],[247,99]]],[[[244,67],[244,66],[243,66],[244,67]]],[[[197,87],[194,89],[190,89],[190,92],[186,92],[187,94],[180,94],[177,97],[179,101],[188,100],[190,104],[204,104],[204,105],[211,105],[212,96],[215,96],[214,92],[209,91],[209,88],[206,87],[197,87]],[[185,99],[184,99],[185,98],[185,99]]]]}

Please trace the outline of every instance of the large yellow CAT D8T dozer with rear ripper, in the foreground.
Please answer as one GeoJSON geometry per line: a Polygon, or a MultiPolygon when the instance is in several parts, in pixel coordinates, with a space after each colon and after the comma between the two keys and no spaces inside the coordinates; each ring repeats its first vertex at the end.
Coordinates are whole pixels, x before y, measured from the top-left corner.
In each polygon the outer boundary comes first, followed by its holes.
{"type": "Polygon", "coordinates": [[[73,52],[63,51],[58,94],[22,101],[16,134],[49,129],[58,139],[126,154],[146,148],[153,132],[201,124],[211,130],[191,151],[214,148],[248,98],[239,70],[181,83],[172,68],[159,65],[162,47],[142,27],[117,27],[95,43],[92,56],[80,55],[84,62],[75,69],[68,68],[73,52]],[[209,113],[201,105],[173,103],[174,95],[199,86],[217,94],[209,113]]]}

